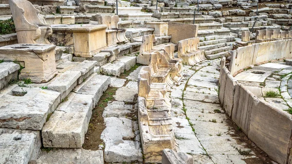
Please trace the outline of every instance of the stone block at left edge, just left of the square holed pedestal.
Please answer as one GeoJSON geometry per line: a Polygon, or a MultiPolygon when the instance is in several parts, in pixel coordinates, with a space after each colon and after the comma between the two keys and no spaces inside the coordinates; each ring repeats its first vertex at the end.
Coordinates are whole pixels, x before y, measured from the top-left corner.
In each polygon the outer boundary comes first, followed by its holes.
{"type": "Polygon", "coordinates": [[[0,63],[0,90],[10,81],[17,81],[20,66],[13,62],[0,63]]]}

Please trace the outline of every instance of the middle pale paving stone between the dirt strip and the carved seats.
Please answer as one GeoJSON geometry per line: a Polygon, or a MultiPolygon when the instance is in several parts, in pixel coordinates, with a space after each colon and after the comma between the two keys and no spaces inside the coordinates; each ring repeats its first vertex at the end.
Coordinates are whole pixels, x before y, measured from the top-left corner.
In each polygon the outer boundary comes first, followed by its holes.
{"type": "Polygon", "coordinates": [[[126,117],[133,111],[133,105],[126,105],[123,101],[113,101],[104,109],[103,117],[126,117]]]}

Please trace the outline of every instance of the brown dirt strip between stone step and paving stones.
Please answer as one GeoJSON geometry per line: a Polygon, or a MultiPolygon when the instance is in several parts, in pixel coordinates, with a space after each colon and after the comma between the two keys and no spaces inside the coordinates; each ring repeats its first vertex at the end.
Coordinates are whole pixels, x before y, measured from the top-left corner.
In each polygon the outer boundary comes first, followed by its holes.
{"type": "Polygon", "coordinates": [[[104,125],[102,113],[107,107],[108,102],[114,100],[112,96],[115,95],[116,90],[117,88],[109,87],[101,96],[97,106],[92,110],[91,120],[82,146],[84,149],[97,150],[98,146],[103,144],[100,135],[106,126],[104,125]]]}

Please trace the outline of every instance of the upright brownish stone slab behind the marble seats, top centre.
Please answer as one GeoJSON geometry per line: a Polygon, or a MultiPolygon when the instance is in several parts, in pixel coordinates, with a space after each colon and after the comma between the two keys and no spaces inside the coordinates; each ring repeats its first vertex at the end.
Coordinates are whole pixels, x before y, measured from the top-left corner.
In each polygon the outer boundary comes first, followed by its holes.
{"type": "Polygon", "coordinates": [[[168,22],[168,35],[171,36],[170,41],[174,44],[178,44],[180,40],[190,37],[198,36],[199,25],[168,22]],[[181,33],[181,32],[184,33],[181,33]]]}

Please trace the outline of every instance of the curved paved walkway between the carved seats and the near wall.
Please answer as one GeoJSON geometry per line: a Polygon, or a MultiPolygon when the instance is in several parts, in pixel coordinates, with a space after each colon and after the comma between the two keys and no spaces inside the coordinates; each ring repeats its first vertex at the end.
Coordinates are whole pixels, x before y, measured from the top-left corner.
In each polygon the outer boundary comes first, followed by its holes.
{"type": "Polygon", "coordinates": [[[180,151],[192,154],[194,164],[266,164],[263,152],[221,109],[218,70],[219,59],[185,66],[181,83],[172,88],[171,117],[180,151]]]}

